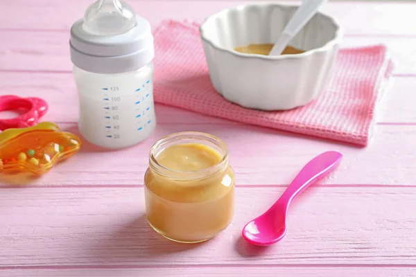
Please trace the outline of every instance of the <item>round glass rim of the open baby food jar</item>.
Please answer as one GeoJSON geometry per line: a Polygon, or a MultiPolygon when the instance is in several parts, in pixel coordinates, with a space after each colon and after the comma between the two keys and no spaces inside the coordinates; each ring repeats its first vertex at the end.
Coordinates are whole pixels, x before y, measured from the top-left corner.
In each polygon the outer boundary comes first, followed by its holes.
{"type": "Polygon", "coordinates": [[[227,168],[229,164],[229,150],[225,142],[218,138],[218,136],[214,136],[212,134],[207,134],[205,132],[196,132],[196,131],[184,131],[184,132],[175,132],[172,134],[168,134],[167,136],[162,137],[161,139],[158,139],[150,148],[150,155],[149,155],[149,165],[150,168],[155,170],[157,174],[164,175],[166,177],[169,177],[170,179],[176,179],[172,178],[174,175],[181,175],[182,178],[177,179],[177,181],[189,181],[189,179],[184,179],[183,175],[189,175],[189,177],[193,177],[191,179],[203,179],[205,177],[209,177],[211,175],[216,174],[218,171],[223,170],[224,168],[227,168]],[[196,171],[181,171],[181,170],[173,170],[171,168],[167,168],[166,166],[163,166],[157,161],[157,157],[155,153],[157,150],[163,148],[163,146],[171,141],[180,141],[181,139],[190,139],[193,141],[198,140],[205,140],[208,142],[211,142],[212,144],[216,145],[217,148],[220,148],[219,150],[223,153],[223,158],[216,163],[214,166],[209,166],[208,168],[204,168],[202,170],[196,170],[196,171]],[[196,176],[198,175],[198,177],[196,176]]]}

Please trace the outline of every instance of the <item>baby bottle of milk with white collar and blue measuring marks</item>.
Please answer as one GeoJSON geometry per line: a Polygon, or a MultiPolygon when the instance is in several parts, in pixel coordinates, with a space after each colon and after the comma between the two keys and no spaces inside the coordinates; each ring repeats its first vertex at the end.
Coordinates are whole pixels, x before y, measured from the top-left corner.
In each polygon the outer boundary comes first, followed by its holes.
{"type": "Polygon", "coordinates": [[[155,129],[153,35],[120,0],[98,0],[71,27],[78,129],[103,148],[126,148],[155,129]]]}

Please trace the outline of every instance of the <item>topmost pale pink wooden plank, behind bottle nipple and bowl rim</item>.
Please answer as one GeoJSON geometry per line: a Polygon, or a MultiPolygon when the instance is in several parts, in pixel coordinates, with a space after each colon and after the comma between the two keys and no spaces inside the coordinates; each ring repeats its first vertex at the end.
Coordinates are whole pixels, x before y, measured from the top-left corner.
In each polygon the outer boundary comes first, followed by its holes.
{"type": "MultiPolygon", "coordinates": [[[[74,21],[83,17],[90,3],[87,0],[72,0],[71,5],[63,8],[60,1],[55,0],[1,1],[0,10],[7,9],[8,12],[4,12],[0,17],[0,26],[14,30],[69,30],[74,21]],[[25,7],[23,15],[21,15],[22,6],[25,7]],[[62,10],[62,12],[57,12],[57,10],[62,10]]],[[[133,0],[129,3],[139,15],[155,25],[162,19],[189,18],[202,21],[208,15],[223,8],[239,6],[250,1],[164,1],[161,4],[161,1],[133,0]]],[[[335,17],[344,26],[347,34],[416,35],[413,24],[409,24],[409,20],[414,17],[413,3],[392,1],[390,3],[364,2],[357,5],[348,1],[329,1],[322,7],[322,12],[335,17]]]]}

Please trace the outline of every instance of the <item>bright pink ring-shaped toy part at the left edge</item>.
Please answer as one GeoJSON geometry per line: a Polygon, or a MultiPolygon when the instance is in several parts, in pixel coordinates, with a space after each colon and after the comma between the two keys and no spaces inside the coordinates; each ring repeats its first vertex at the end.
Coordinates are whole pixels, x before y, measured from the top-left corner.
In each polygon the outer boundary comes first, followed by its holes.
{"type": "Polygon", "coordinates": [[[0,96],[0,111],[25,109],[21,116],[0,119],[0,130],[8,128],[24,128],[37,124],[37,120],[46,114],[48,104],[41,98],[6,95],[0,96]]]}

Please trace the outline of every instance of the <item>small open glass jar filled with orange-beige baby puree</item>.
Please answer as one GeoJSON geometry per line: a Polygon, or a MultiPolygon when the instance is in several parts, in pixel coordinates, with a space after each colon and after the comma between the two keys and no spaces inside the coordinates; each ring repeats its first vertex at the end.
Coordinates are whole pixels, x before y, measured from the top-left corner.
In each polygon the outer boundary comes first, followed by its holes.
{"type": "Polygon", "coordinates": [[[148,222],[169,240],[209,240],[234,216],[234,171],[216,136],[180,132],[157,141],[144,185],[148,222]]]}

